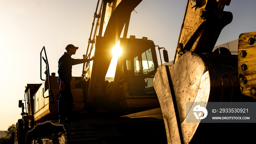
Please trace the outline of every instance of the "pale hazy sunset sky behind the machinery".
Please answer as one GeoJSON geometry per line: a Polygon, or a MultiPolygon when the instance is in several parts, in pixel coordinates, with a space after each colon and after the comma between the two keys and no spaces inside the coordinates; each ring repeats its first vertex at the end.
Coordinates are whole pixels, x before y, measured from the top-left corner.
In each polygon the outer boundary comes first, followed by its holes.
{"type": "MultiPolygon", "coordinates": [[[[21,118],[18,101],[24,99],[26,84],[42,83],[43,46],[50,73],[57,73],[58,60],[68,44],[79,47],[73,58],[86,54],[96,4],[97,0],[0,0],[0,130],[21,118]]],[[[172,61],[186,4],[187,0],[143,0],[135,8],[137,13],[132,12],[128,37],[148,37],[166,48],[172,61]]],[[[233,21],[222,30],[216,45],[256,31],[255,6],[255,0],[231,0],[225,11],[233,13],[233,21]]],[[[81,76],[82,65],[72,71],[73,76],[81,76]]]]}

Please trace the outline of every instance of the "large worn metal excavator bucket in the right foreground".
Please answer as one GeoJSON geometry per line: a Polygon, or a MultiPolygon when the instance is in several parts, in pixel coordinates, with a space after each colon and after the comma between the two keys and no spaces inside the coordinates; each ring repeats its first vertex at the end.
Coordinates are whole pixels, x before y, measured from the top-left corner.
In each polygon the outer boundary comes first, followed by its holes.
{"type": "MultiPolygon", "coordinates": [[[[239,102],[236,55],[187,52],[178,61],[157,69],[153,85],[158,96],[169,143],[189,143],[201,123],[187,123],[186,102],[239,102]]],[[[243,97],[244,98],[244,97],[243,97]]],[[[221,129],[221,128],[220,128],[221,129]]],[[[201,131],[203,130],[203,131],[201,131]]]]}

